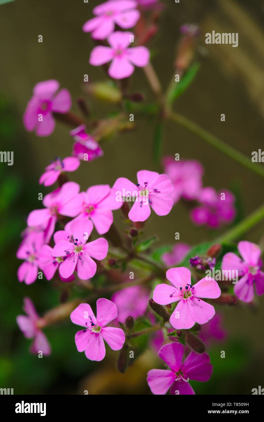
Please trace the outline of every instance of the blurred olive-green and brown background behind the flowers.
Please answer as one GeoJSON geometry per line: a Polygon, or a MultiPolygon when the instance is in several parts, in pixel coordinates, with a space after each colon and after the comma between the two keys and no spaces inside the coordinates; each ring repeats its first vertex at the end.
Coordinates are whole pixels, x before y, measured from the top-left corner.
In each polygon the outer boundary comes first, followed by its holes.
{"type": "MultiPolygon", "coordinates": [[[[78,353],[74,344],[77,327],[70,320],[47,328],[45,333],[52,345],[52,355],[38,359],[28,353],[30,341],[19,331],[15,318],[22,313],[22,299],[29,296],[39,314],[58,305],[61,291],[52,282],[37,280],[26,286],[16,276],[20,262],[16,249],[21,241],[27,214],[39,208],[38,192],[45,195],[53,189],[40,187],[38,178],[55,156],[71,154],[69,127],[56,124],[48,138],[27,133],[22,114],[38,81],[57,79],[69,89],[73,102],[83,95],[83,75],[89,81],[105,80],[98,68],[89,65],[93,42],[82,32],[82,24],[92,16],[92,8],[101,2],[88,4],[74,0],[17,0],[0,6],[0,139],[2,151],[14,151],[14,165],[0,163],[0,387],[14,388],[14,394],[149,394],[146,372],[157,367],[159,360],[148,349],[126,374],[116,371],[117,354],[107,349],[103,362],[90,362],[78,353]],[[38,43],[43,35],[43,43],[38,43]]],[[[264,148],[264,2],[259,0],[233,2],[203,0],[175,4],[162,2],[166,9],[160,29],[151,43],[152,63],[165,89],[174,74],[173,61],[179,27],[184,23],[201,26],[199,42],[202,63],[195,81],[179,97],[175,109],[231,144],[247,157],[264,148]],[[218,30],[238,32],[239,46],[206,46],[204,34],[218,30]],[[205,48],[206,47],[206,48],[205,48]],[[262,52],[262,54],[261,54],[262,52]],[[225,122],[220,122],[220,114],[225,122]]],[[[152,98],[145,75],[136,69],[132,89],[141,90],[152,98]]],[[[115,107],[86,97],[97,116],[109,115],[115,107]]],[[[74,105],[73,111],[77,112],[74,105]]],[[[116,135],[104,142],[104,156],[69,174],[81,190],[93,184],[113,184],[124,176],[134,180],[137,170],[146,168],[162,171],[152,160],[154,121],[135,114],[136,131],[116,135]]],[[[200,160],[204,166],[203,182],[217,190],[232,189],[239,204],[239,219],[259,206],[263,200],[260,176],[242,168],[238,163],[212,149],[199,138],[176,124],[166,124],[162,154],[180,154],[181,158],[200,160]]],[[[157,246],[173,244],[174,233],[180,241],[200,243],[218,233],[192,225],[189,211],[183,203],[171,213],[159,218],[151,213],[145,236],[156,234],[157,246]]],[[[116,224],[120,214],[115,212],[116,224]]],[[[264,243],[264,222],[244,237],[264,243]]],[[[222,232],[225,229],[222,230],[222,232]]],[[[191,382],[197,394],[251,394],[252,388],[264,387],[264,336],[262,308],[264,298],[257,298],[254,307],[223,307],[224,326],[228,341],[210,351],[214,374],[206,383],[191,382]],[[261,306],[262,305],[262,306],[261,306]],[[225,350],[225,359],[220,351],[225,350]]]]}

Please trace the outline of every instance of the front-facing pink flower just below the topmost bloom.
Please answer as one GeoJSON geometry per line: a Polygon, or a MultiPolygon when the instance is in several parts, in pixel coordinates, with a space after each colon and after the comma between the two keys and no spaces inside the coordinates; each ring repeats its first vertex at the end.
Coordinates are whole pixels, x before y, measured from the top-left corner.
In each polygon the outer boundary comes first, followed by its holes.
{"type": "Polygon", "coordinates": [[[144,46],[129,47],[134,38],[131,32],[116,31],[111,34],[107,41],[110,47],[96,46],[91,51],[89,63],[93,66],[101,66],[112,60],[108,74],[114,79],[123,79],[132,75],[135,66],[140,68],[149,62],[150,52],[144,46]]]}

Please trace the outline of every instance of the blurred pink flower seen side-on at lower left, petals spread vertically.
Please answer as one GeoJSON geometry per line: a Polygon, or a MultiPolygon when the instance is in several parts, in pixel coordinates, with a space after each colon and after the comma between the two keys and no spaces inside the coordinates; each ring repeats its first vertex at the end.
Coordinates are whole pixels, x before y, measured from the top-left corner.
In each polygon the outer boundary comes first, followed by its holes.
{"type": "Polygon", "coordinates": [[[30,347],[30,352],[38,353],[42,351],[44,355],[48,356],[51,353],[50,343],[47,340],[46,335],[44,335],[39,328],[41,325],[44,326],[44,323],[42,323],[42,319],[38,316],[30,298],[24,298],[23,311],[25,311],[27,317],[25,315],[18,315],[16,317],[16,322],[25,335],[25,338],[34,338],[30,347]]]}

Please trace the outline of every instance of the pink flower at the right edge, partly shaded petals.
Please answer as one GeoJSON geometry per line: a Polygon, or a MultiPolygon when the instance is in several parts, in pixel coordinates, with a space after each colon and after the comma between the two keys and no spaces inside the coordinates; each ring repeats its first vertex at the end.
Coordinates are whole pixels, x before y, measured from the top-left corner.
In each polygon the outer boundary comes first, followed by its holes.
{"type": "MultiPolygon", "coordinates": [[[[254,298],[254,283],[258,296],[264,294],[264,272],[261,271],[261,249],[258,245],[248,241],[241,241],[237,245],[239,258],[233,252],[228,252],[223,256],[222,271],[225,277],[231,271],[238,271],[238,276],[242,276],[234,286],[234,293],[243,302],[251,302],[254,298]]],[[[232,277],[231,277],[232,279],[232,277]]]]}

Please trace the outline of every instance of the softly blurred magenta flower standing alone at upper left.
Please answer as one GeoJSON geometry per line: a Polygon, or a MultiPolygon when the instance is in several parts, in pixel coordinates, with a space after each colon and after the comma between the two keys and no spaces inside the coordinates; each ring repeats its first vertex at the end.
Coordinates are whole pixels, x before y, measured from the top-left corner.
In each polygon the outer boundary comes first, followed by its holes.
{"type": "Polygon", "coordinates": [[[25,128],[32,132],[36,130],[38,136],[48,136],[55,128],[52,112],[67,113],[71,108],[71,95],[68,89],[60,89],[55,79],[38,82],[33,89],[33,97],[27,103],[23,116],[25,128]],[[41,117],[42,116],[42,117],[41,117]]]}

